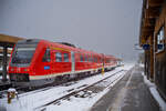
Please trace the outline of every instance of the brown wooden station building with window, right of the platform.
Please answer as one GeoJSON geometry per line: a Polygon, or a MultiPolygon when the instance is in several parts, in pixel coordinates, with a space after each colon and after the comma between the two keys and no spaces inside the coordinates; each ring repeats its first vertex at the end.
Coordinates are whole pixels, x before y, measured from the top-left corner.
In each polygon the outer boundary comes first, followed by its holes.
{"type": "Polygon", "coordinates": [[[166,100],[166,0],[143,0],[139,31],[145,74],[166,100]]]}

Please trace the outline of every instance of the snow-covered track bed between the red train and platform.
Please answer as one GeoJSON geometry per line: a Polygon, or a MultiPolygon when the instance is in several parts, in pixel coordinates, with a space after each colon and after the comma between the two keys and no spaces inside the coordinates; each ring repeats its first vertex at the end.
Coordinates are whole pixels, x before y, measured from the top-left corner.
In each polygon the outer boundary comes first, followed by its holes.
{"type": "Polygon", "coordinates": [[[7,98],[1,98],[0,111],[87,111],[118,80],[121,81],[132,67],[133,64],[125,64],[104,74],[24,92],[19,94],[19,99],[13,99],[10,104],[7,98]],[[101,82],[96,83],[98,81],[101,82]]]}

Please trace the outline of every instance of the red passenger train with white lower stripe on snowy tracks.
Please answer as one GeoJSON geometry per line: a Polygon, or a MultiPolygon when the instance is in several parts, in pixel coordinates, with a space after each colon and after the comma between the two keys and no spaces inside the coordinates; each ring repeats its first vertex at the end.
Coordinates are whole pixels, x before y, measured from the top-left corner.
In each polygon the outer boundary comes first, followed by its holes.
{"type": "Polygon", "coordinates": [[[29,39],[13,48],[9,77],[13,83],[41,85],[62,78],[82,77],[111,70],[117,65],[113,56],[75,48],[69,43],[29,39]]]}

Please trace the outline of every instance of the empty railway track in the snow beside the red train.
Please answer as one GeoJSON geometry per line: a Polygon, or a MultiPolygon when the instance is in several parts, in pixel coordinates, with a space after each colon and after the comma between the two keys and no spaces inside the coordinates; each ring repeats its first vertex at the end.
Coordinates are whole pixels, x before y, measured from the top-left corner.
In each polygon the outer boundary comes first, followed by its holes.
{"type": "MultiPolygon", "coordinates": [[[[96,82],[94,82],[92,84],[83,84],[83,85],[81,85],[81,87],[79,87],[76,89],[71,89],[71,90],[69,90],[68,94],[62,95],[62,97],[60,97],[60,98],[58,98],[58,99],[55,99],[53,101],[50,101],[50,102],[48,102],[48,103],[45,103],[43,105],[40,105],[40,107],[35,108],[34,111],[44,111],[46,109],[46,107],[50,105],[50,104],[58,104],[58,103],[60,103],[63,100],[70,99],[70,97],[80,97],[79,95],[80,92],[86,92],[86,93],[97,92],[97,91],[95,91],[95,88],[97,85],[101,85],[102,83],[104,83],[104,84],[106,83],[103,87],[103,89],[100,89],[101,91],[103,91],[104,89],[106,89],[106,88],[111,87],[112,84],[114,84],[117,80],[122,79],[122,77],[124,74],[120,74],[120,73],[125,72],[125,71],[126,70],[120,70],[120,71],[117,71],[117,72],[115,72],[115,73],[113,73],[113,74],[111,74],[111,75],[108,75],[108,77],[106,77],[106,78],[104,78],[104,79],[102,79],[100,81],[96,81],[96,82]],[[120,75],[117,75],[117,74],[120,74],[120,75]],[[106,81],[108,81],[108,82],[106,82],[106,81]]],[[[84,98],[84,95],[82,95],[82,98],[84,98]]]]}

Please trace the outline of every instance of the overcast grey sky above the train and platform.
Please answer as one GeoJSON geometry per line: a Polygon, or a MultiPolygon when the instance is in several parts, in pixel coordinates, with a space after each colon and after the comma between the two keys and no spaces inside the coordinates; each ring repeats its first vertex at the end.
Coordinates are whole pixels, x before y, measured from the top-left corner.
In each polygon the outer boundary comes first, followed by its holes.
{"type": "Polygon", "coordinates": [[[135,60],[142,0],[0,0],[0,33],[135,60]]]}

